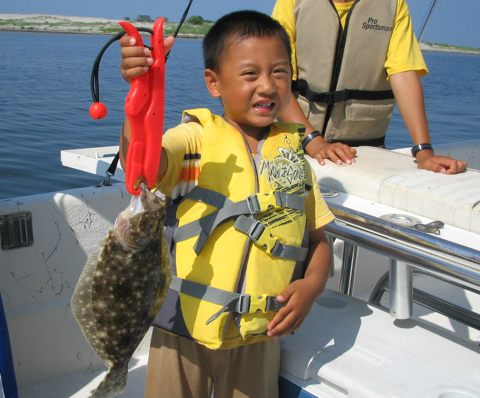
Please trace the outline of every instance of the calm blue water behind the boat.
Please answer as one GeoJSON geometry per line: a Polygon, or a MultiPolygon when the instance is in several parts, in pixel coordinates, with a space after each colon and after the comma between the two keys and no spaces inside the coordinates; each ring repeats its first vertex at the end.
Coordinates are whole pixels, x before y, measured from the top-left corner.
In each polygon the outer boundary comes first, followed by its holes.
{"type": "MultiPolygon", "coordinates": [[[[90,72],[108,36],[0,32],[0,199],[96,185],[101,176],[64,167],[60,150],[118,144],[128,92],[113,43],[100,64],[105,119],[93,120],[90,72]]],[[[432,142],[480,138],[480,56],[424,53],[430,74],[422,78],[432,142]]],[[[201,41],[178,39],[166,63],[165,128],[183,109],[220,112],[203,82],[201,41]]],[[[387,148],[410,138],[395,111],[387,148]]]]}

